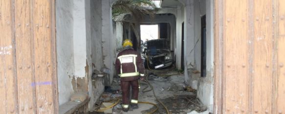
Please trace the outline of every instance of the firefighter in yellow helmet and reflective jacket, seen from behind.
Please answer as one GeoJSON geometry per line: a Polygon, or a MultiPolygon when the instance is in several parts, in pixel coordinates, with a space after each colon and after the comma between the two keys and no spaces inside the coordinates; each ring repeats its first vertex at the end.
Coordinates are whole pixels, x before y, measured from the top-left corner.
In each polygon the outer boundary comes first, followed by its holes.
{"type": "Polygon", "coordinates": [[[123,51],[116,58],[116,71],[121,78],[122,108],[124,112],[129,111],[129,104],[132,109],[138,108],[139,79],[144,79],[144,67],[140,54],[132,48],[132,41],[123,42],[123,51]],[[130,103],[130,87],[132,87],[132,99],[130,103]]]}

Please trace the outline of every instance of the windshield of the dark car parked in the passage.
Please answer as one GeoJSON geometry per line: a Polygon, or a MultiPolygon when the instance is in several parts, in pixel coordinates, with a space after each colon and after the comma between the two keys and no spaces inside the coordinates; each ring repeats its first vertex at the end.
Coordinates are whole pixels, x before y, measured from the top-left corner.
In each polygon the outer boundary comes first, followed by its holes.
{"type": "Polygon", "coordinates": [[[147,42],[148,49],[170,49],[170,43],[168,40],[152,40],[147,42]]]}

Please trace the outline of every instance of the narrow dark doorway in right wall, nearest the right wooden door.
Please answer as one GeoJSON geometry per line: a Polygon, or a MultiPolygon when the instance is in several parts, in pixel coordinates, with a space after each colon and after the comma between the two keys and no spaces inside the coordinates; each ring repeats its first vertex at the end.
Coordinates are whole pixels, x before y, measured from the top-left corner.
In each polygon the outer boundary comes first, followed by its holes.
{"type": "Polygon", "coordinates": [[[206,15],[201,18],[201,76],[206,77],[206,15]]]}

